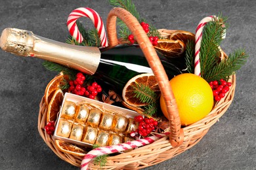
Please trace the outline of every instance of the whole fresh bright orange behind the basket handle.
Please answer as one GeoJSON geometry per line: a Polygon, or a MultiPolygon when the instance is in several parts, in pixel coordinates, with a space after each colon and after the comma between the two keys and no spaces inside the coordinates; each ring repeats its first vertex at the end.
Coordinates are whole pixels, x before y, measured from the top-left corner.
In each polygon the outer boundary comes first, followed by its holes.
{"type": "MultiPolygon", "coordinates": [[[[213,108],[213,92],[208,82],[192,73],[177,75],[169,81],[175,96],[182,126],[188,126],[204,118],[213,108]]],[[[168,118],[163,97],[160,106],[168,118]]]]}

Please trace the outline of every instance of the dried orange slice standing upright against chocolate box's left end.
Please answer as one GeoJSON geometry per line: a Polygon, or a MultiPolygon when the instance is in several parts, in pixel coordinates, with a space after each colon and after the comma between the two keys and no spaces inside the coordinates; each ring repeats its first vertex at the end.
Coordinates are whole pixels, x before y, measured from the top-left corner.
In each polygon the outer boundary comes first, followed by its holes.
{"type": "Polygon", "coordinates": [[[47,122],[53,120],[56,121],[57,114],[60,111],[60,105],[62,105],[63,97],[64,95],[61,89],[54,92],[47,110],[47,122]]]}

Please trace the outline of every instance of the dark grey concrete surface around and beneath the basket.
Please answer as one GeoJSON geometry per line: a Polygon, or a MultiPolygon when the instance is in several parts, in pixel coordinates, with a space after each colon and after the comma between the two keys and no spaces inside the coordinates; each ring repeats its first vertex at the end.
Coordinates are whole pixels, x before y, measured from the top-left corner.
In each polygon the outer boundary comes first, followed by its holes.
{"type": "MultiPolygon", "coordinates": [[[[245,48],[250,55],[237,72],[236,95],[230,108],[190,150],[146,169],[255,169],[255,0],[134,1],[140,15],[157,28],[195,32],[205,16],[228,16],[222,48],[230,54],[245,48]],[[147,2],[147,3],[145,3],[147,2]]],[[[0,1],[0,30],[28,29],[64,42],[68,14],[78,7],[95,9],[104,22],[108,1],[0,1]]],[[[88,22],[88,25],[91,23],[88,22]]],[[[78,169],[60,160],[37,132],[39,102],[54,73],[41,59],[21,58],[0,50],[0,169],[78,169]]]]}

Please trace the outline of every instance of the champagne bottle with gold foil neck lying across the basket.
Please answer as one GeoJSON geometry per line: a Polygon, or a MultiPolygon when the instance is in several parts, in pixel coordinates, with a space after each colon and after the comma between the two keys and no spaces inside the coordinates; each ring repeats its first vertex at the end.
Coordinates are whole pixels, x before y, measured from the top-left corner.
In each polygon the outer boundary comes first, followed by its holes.
{"type": "MultiPolygon", "coordinates": [[[[112,49],[77,46],[53,41],[32,31],[6,28],[0,39],[1,48],[12,54],[41,58],[72,67],[87,75],[95,75],[121,92],[134,76],[152,73],[142,50],[137,46],[117,46],[112,49]]],[[[169,78],[181,74],[181,70],[161,58],[169,78]]]]}

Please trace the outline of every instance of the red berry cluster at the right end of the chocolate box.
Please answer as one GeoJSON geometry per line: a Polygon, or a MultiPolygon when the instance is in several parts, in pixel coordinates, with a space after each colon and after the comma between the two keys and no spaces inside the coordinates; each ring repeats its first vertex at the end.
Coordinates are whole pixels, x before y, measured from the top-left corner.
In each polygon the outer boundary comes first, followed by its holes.
{"type": "Polygon", "coordinates": [[[131,131],[131,137],[138,137],[139,135],[146,137],[158,126],[158,121],[154,120],[153,118],[143,118],[142,116],[135,116],[134,120],[135,122],[139,122],[139,127],[135,131],[131,131]]]}

